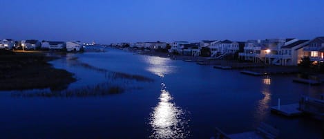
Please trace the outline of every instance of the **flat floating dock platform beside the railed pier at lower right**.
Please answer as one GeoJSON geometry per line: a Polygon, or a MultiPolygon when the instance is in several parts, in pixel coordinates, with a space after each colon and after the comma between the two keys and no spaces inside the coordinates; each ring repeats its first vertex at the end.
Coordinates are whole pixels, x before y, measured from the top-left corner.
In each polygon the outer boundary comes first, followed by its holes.
{"type": "Polygon", "coordinates": [[[299,104],[287,104],[280,106],[271,106],[271,112],[278,113],[280,115],[285,115],[287,117],[293,117],[301,115],[303,112],[299,111],[299,104]]]}

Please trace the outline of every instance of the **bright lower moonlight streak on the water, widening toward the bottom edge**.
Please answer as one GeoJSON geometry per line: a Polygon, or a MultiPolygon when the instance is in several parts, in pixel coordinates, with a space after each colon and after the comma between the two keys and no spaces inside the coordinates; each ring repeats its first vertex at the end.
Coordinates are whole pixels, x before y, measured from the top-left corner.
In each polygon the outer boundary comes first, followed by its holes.
{"type": "Polygon", "coordinates": [[[151,113],[150,124],[152,134],[150,138],[186,138],[189,131],[186,131],[187,122],[184,118],[184,111],[172,102],[169,91],[166,91],[162,83],[160,102],[151,113]]]}

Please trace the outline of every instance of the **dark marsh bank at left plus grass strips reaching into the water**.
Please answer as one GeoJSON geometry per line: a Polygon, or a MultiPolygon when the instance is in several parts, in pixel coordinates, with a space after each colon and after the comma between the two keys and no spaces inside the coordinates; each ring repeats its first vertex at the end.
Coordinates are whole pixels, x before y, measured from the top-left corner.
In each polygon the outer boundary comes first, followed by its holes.
{"type": "Polygon", "coordinates": [[[12,52],[10,50],[0,51],[0,91],[17,91],[12,97],[43,97],[43,98],[73,98],[73,97],[95,97],[123,93],[128,89],[141,89],[139,86],[126,86],[126,82],[153,82],[154,80],[142,75],[132,75],[108,71],[80,62],[78,57],[67,59],[73,66],[87,68],[102,73],[106,82],[91,86],[81,86],[77,89],[67,89],[70,83],[76,81],[74,74],[64,69],[57,69],[48,64],[51,60],[59,57],[46,56],[42,52],[12,52]],[[114,84],[114,82],[126,82],[114,84]],[[27,91],[29,89],[50,89],[27,91]]]}

